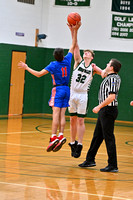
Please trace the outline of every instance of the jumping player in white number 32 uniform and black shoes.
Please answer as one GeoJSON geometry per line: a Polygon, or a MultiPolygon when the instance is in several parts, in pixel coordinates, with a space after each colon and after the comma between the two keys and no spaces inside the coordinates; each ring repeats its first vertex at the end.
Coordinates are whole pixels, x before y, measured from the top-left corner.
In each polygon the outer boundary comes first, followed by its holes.
{"type": "MultiPolygon", "coordinates": [[[[71,34],[73,32],[68,24],[71,34]]],[[[91,61],[94,58],[92,50],[84,50],[83,59],[80,55],[78,43],[74,49],[74,69],[71,78],[70,101],[68,108],[70,113],[70,143],[71,156],[78,158],[81,155],[83,148],[82,141],[85,132],[84,118],[87,115],[88,109],[88,91],[94,74],[99,74],[102,77],[105,75],[104,70],[101,70],[91,61]],[[76,136],[78,141],[76,141],[76,136]]]]}

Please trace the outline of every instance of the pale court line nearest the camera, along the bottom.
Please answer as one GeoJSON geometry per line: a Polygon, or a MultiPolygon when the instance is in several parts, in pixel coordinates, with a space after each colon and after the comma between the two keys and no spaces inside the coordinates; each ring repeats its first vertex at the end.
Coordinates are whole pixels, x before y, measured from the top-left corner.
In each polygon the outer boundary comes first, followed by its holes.
{"type": "Polygon", "coordinates": [[[47,187],[32,186],[32,185],[17,184],[17,183],[9,183],[9,182],[0,182],[0,184],[19,186],[19,187],[27,187],[27,188],[36,188],[36,189],[41,189],[41,190],[52,190],[52,191],[65,192],[65,193],[76,193],[76,194],[81,194],[81,195],[89,195],[89,196],[97,196],[97,197],[106,197],[106,198],[111,198],[111,199],[132,200],[132,199],[127,199],[127,198],[123,198],[123,197],[107,196],[107,195],[101,195],[101,194],[91,194],[91,193],[87,193],[87,192],[59,190],[59,189],[53,189],[53,188],[47,188],[47,187]]]}

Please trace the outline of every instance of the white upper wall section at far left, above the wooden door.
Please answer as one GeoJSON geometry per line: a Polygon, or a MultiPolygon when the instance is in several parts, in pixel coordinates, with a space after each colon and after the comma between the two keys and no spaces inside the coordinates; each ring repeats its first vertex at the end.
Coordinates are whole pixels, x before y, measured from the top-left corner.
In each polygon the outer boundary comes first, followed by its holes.
{"type": "Polygon", "coordinates": [[[35,45],[35,30],[42,25],[42,0],[35,5],[0,0],[0,42],[20,45],[35,45]],[[24,37],[16,36],[24,33],[24,37]]]}

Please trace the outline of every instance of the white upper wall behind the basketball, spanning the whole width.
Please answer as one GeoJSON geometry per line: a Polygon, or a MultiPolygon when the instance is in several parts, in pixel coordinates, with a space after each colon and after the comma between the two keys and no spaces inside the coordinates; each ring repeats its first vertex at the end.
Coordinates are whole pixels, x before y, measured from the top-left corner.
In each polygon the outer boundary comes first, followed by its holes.
{"type": "Polygon", "coordinates": [[[0,0],[0,43],[35,45],[35,29],[48,37],[39,42],[40,47],[69,48],[70,31],[66,25],[67,15],[78,12],[82,26],[78,33],[81,49],[133,52],[133,40],[111,38],[112,0],[91,0],[91,6],[54,6],[54,0],[35,0],[35,5],[17,0],[0,0]],[[15,36],[23,32],[24,37],[15,36]]]}

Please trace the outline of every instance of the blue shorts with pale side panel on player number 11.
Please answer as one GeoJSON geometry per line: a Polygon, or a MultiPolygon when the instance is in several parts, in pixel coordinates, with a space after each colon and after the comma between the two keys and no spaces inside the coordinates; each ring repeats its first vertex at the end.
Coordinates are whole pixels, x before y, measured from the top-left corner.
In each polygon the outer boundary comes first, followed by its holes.
{"type": "Polygon", "coordinates": [[[50,107],[66,108],[69,106],[70,88],[68,86],[57,86],[51,91],[49,100],[50,107]]]}

